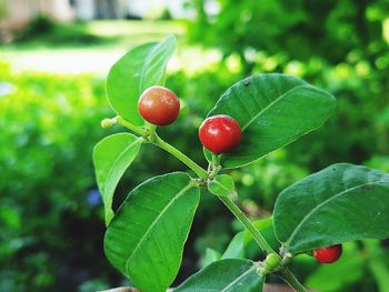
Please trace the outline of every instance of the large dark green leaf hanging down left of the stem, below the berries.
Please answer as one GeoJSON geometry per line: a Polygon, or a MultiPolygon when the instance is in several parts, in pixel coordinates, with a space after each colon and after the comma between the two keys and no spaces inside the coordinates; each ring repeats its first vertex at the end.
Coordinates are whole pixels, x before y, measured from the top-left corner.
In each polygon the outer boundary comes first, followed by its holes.
{"type": "Polygon", "coordinates": [[[199,200],[198,185],[182,172],[143,182],[108,226],[108,260],[143,292],[164,292],[181,264],[199,200]]]}

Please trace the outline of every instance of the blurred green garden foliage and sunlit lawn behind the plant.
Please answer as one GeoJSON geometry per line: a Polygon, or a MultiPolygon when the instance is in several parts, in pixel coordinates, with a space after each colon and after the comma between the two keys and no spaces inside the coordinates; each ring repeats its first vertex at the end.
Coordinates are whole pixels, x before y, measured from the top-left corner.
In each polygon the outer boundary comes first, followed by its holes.
{"type": "MultiPolygon", "coordinates": [[[[387,0],[181,4],[190,13],[174,19],[168,8],[138,20],[63,23],[37,14],[12,29],[4,26],[7,1],[0,1],[0,291],[83,292],[128,284],[103,255],[92,149],[123,130],[99,125],[113,117],[104,95],[110,66],[131,47],[169,33],[179,46],[167,87],[183,109],[160,133],[205,167],[197,129],[233,82],[285,72],[338,99],[337,114],[321,129],[231,171],[240,207],[250,217],[268,217],[282,189],[331,163],[389,172],[387,0]]],[[[174,170],[186,168],[144,147],[120,182],[114,205],[146,179],[174,170]]],[[[222,252],[240,229],[205,192],[176,283],[201,266],[206,248],[222,252]]],[[[389,291],[389,241],[346,243],[333,265],[318,265],[309,256],[292,265],[320,291],[389,291]]]]}

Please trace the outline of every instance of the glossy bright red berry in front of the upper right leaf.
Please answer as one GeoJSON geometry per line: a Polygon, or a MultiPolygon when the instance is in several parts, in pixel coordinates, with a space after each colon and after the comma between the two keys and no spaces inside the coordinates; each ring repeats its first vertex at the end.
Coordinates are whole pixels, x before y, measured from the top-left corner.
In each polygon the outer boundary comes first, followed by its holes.
{"type": "Polygon", "coordinates": [[[241,135],[239,123],[225,114],[206,119],[199,129],[201,143],[217,154],[232,151],[239,144],[241,135]]]}

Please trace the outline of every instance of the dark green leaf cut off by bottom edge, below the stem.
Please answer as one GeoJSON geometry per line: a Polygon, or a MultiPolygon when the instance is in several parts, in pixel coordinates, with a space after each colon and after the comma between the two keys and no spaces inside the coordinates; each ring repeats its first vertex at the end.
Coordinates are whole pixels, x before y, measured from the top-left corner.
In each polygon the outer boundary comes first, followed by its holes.
{"type": "Polygon", "coordinates": [[[258,292],[263,278],[257,273],[252,261],[242,259],[220,260],[190,276],[174,292],[258,292]]]}

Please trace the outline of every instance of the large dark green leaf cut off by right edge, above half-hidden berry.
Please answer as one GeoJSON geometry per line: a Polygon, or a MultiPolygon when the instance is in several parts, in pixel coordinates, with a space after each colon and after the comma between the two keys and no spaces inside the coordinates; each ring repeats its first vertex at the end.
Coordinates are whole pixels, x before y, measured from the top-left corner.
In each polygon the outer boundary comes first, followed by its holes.
{"type": "Polygon", "coordinates": [[[366,238],[389,238],[389,174],[333,164],[283,190],[275,231],[297,253],[366,238]]]}

